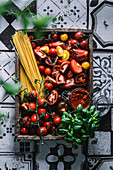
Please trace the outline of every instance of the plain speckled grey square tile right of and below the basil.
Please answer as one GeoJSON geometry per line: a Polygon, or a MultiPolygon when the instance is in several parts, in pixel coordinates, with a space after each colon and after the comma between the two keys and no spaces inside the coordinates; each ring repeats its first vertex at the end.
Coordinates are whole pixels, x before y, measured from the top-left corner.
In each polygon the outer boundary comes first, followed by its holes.
{"type": "Polygon", "coordinates": [[[89,155],[110,155],[111,154],[111,133],[99,131],[95,132],[95,138],[90,138],[88,142],[89,155]],[[97,143],[92,144],[94,139],[97,143]],[[107,145],[106,145],[107,144],[107,145]]]}

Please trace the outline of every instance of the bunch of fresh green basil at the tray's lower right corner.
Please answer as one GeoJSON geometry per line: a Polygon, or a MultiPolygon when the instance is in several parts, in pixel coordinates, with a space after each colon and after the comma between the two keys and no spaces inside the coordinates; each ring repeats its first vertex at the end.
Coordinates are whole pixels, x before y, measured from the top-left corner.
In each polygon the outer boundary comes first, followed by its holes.
{"type": "Polygon", "coordinates": [[[84,145],[86,140],[94,136],[94,131],[99,127],[100,112],[95,111],[95,106],[89,109],[83,109],[82,105],[78,105],[76,113],[71,114],[63,112],[59,131],[66,134],[65,140],[72,143],[76,148],[76,144],[84,145]],[[65,128],[63,128],[65,127],[65,128]]]}

